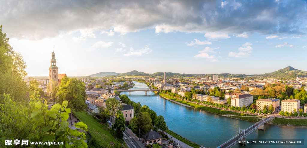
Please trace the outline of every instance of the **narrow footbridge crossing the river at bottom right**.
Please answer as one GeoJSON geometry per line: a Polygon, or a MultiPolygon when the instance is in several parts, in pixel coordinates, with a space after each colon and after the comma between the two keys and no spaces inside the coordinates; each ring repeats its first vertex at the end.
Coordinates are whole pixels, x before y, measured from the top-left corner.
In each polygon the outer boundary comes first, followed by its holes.
{"type": "Polygon", "coordinates": [[[252,125],[251,127],[247,128],[247,129],[240,129],[239,128],[239,134],[235,135],[233,138],[231,138],[230,140],[228,140],[227,142],[225,142],[224,144],[218,146],[217,148],[230,148],[231,146],[234,146],[236,143],[239,142],[239,144],[245,145],[245,137],[247,135],[249,135],[251,132],[255,131],[257,128],[259,130],[264,130],[264,125],[267,121],[271,120],[273,118],[273,116],[267,116],[266,118],[258,121],[257,123],[255,123],[254,125],[252,125]],[[242,132],[240,133],[240,131],[242,130],[242,132]]]}

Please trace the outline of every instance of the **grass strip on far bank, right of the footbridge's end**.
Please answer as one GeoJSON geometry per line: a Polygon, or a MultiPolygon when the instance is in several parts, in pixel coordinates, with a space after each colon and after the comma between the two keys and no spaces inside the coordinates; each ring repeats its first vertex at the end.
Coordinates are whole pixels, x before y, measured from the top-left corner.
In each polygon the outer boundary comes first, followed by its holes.
{"type": "Polygon", "coordinates": [[[284,119],[275,117],[275,119],[273,119],[273,121],[270,123],[279,125],[307,126],[307,120],[304,119],[284,119]]]}

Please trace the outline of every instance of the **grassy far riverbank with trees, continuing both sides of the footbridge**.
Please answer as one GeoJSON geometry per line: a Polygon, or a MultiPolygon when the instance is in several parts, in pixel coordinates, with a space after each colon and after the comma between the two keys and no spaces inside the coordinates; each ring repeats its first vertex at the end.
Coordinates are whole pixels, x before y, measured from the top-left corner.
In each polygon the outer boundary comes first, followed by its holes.
{"type": "MultiPolygon", "coordinates": [[[[188,105],[189,107],[197,108],[200,110],[204,110],[210,113],[215,113],[219,115],[237,115],[237,116],[226,116],[229,118],[244,120],[244,121],[250,121],[250,122],[256,122],[258,120],[258,116],[256,115],[250,115],[250,114],[244,114],[244,113],[237,113],[237,112],[231,112],[228,110],[223,109],[217,109],[209,106],[204,106],[192,102],[188,102],[182,99],[174,98],[172,96],[169,96],[167,94],[163,94],[161,92],[155,91],[157,95],[160,95],[162,98],[168,99],[169,101],[172,101],[175,103],[180,103],[181,105],[188,105]]],[[[276,125],[287,125],[287,126],[307,126],[306,120],[303,119],[282,119],[282,118],[275,118],[273,120],[270,120],[267,122],[268,124],[276,124],[276,125]],[[295,120],[295,121],[294,121],[295,120]]]]}

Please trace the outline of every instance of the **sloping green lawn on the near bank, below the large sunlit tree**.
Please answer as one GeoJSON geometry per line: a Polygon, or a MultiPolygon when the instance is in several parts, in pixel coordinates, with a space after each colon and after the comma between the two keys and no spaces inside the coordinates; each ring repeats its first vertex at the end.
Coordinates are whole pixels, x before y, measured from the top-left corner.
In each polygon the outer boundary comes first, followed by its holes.
{"type": "MultiPolygon", "coordinates": [[[[87,130],[91,133],[93,138],[95,137],[95,139],[97,139],[100,143],[105,146],[110,145],[111,143],[116,143],[116,138],[114,138],[110,129],[107,128],[106,125],[99,124],[99,121],[95,117],[85,111],[73,113],[77,118],[79,118],[80,121],[87,125],[87,130]]],[[[87,135],[87,137],[89,138],[90,136],[87,135]]]]}

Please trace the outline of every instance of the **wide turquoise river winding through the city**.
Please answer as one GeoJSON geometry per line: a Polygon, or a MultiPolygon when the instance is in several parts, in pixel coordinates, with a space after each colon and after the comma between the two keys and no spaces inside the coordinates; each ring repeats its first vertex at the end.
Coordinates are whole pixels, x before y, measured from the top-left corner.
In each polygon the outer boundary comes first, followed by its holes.
{"type": "MultiPolygon", "coordinates": [[[[141,84],[137,84],[141,85],[141,84]]],[[[142,84],[145,85],[146,84],[142,84]]],[[[134,87],[131,89],[148,89],[148,87],[134,87]]],[[[157,116],[162,115],[170,130],[176,132],[182,137],[189,139],[204,147],[215,148],[231,139],[238,129],[248,128],[254,122],[232,119],[217,114],[202,111],[192,107],[186,107],[174,102],[168,101],[155,94],[154,92],[137,91],[121,92],[126,94],[131,101],[140,102],[153,109],[157,116]]],[[[306,120],[307,122],[307,120],[306,120]]],[[[256,130],[246,137],[246,139],[307,139],[307,127],[281,126],[273,124],[265,124],[264,131],[256,130]]],[[[306,141],[307,142],[307,141],[306,141]]],[[[241,146],[236,144],[233,148],[300,148],[307,147],[305,145],[255,145],[247,144],[241,146]]]]}

